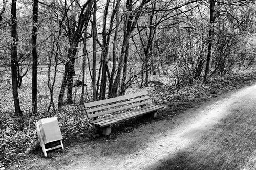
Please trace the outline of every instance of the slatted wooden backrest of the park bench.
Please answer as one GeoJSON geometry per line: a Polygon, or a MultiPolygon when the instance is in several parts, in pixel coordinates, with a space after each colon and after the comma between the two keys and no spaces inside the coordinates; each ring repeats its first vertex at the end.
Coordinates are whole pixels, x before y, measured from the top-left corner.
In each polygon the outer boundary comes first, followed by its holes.
{"type": "Polygon", "coordinates": [[[84,107],[86,108],[88,118],[96,118],[105,114],[111,114],[137,106],[143,107],[148,103],[151,103],[150,96],[148,96],[147,91],[144,91],[135,94],[123,95],[116,98],[84,103],[84,107]]]}

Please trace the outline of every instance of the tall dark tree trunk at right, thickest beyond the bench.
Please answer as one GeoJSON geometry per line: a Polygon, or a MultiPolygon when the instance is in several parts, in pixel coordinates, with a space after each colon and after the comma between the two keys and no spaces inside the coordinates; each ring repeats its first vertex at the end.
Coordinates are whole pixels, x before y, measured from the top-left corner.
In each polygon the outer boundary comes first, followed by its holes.
{"type": "Polygon", "coordinates": [[[209,30],[208,53],[207,53],[206,67],[205,67],[205,73],[204,73],[204,83],[207,83],[210,79],[212,41],[214,39],[214,6],[215,6],[215,1],[210,0],[210,30],[209,30]]]}

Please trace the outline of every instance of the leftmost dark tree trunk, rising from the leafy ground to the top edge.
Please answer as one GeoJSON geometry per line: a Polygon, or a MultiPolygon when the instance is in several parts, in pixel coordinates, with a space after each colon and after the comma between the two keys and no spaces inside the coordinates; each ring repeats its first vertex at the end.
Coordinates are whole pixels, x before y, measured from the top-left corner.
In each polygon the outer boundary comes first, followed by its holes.
{"type": "Polygon", "coordinates": [[[21,116],[22,110],[19,106],[19,98],[18,98],[18,87],[17,87],[17,18],[16,18],[16,1],[12,0],[12,6],[11,6],[11,21],[12,21],[12,27],[11,27],[11,37],[13,39],[13,42],[11,44],[11,70],[12,70],[12,94],[13,94],[13,100],[14,100],[14,108],[15,108],[15,115],[21,116]]]}

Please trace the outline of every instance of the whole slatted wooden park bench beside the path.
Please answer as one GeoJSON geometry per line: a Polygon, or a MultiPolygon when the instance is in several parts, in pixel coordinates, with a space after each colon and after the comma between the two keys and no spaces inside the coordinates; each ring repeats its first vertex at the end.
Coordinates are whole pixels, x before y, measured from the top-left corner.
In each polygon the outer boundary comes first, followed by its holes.
{"type": "Polygon", "coordinates": [[[125,120],[145,115],[147,117],[156,117],[157,111],[163,106],[148,105],[151,104],[148,92],[140,92],[119,96],[116,98],[105,99],[90,103],[84,103],[88,119],[92,125],[95,125],[97,133],[109,135],[111,126],[125,120]]]}

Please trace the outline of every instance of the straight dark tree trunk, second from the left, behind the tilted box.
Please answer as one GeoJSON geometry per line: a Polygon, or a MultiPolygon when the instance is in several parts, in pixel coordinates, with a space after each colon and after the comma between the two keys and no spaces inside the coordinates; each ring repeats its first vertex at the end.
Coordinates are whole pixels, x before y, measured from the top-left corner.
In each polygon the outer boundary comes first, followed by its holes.
{"type": "Polygon", "coordinates": [[[33,3],[33,28],[32,28],[32,115],[37,113],[37,14],[38,14],[38,0],[33,3]]]}

